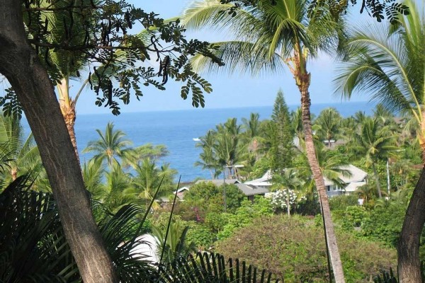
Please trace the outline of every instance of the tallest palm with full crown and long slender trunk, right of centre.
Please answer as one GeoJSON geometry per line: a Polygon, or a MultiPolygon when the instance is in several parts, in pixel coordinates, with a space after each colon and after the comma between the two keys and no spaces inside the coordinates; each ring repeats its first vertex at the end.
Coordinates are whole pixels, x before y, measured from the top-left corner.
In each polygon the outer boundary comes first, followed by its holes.
{"type": "MultiPolygon", "coordinates": [[[[324,180],[314,153],[310,120],[311,76],[307,71],[307,61],[319,50],[329,51],[338,45],[341,30],[333,16],[339,11],[333,10],[332,13],[335,13],[332,14],[324,3],[314,6],[309,13],[309,6],[310,1],[304,0],[259,0],[256,6],[241,8],[233,14],[228,13],[231,4],[222,5],[217,0],[194,1],[186,9],[182,23],[186,28],[209,27],[232,34],[232,40],[217,42],[217,54],[227,66],[222,70],[256,74],[260,70],[270,71],[285,66],[290,69],[301,95],[307,156],[323,207],[334,275],[336,282],[345,282],[324,180]]],[[[200,56],[193,59],[193,66],[214,70],[211,62],[200,56]]]]}

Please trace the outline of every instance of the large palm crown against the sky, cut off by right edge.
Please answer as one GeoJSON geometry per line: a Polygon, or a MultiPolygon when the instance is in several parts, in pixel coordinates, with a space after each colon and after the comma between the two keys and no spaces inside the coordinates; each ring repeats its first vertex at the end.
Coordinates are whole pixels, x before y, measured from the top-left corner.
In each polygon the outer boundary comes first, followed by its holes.
{"type": "MultiPolygon", "coordinates": [[[[336,93],[351,98],[355,91],[370,93],[389,110],[410,112],[424,129],[425,25],[414,1],[409,15],[397,25],[357,28],[348,40],[346,60],[336,77],[336,93]]],[[[425,132],[418,135],[424,151],[425,132]]]]}

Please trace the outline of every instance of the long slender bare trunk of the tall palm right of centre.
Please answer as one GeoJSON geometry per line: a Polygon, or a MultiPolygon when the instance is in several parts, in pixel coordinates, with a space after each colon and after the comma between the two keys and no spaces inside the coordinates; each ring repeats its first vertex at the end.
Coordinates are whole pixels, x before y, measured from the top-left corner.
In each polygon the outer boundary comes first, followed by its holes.
{"type": "Polygon", "coordinates": [[[294,70],[294,77],[301,94],[302,125],[304,127],[305,135],[305,151],[307,153],[307,159],[313,173],[314,182],[316,183],[319,200],[322,205],[325,233],[329,248],[332,270],[334,270],[335,282],[345,283],[344,270],[342,268],[338,245],[336,244],[336,235],[334,231],[334,224],[332,223],[331,219],[331,209],[329,208],[328,196],[324,186],[324,178],[319,167],[319,161],[317,161],[316,152],[314,150],[312,122],[310,120],[311,101],[308,90],[310,87],[310,74],[307,72],[305,67],[306,62],[305,59],[302,58],[300,47],[298,47],[297,50],[298,52],[295,52],[295,57],[293,59],[296,67],[294,70]]]}

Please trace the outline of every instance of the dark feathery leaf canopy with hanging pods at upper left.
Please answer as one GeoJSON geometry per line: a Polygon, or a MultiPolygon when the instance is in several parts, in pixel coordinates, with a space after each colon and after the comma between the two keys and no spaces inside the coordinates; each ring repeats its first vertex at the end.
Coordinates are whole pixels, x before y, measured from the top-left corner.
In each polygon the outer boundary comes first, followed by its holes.
{"type": "MultiPolygon", "coordinates": [[[[192,105],[203,107],[203,91],[210,83],[196,74],[188,59],[203,54],[222,64],[208,42],[188,40],[179,19],[164,21],[157,14],[135,8],[125,0],[21,0],[28,42],[37,52],[52,81],[62,78],[62,61],[55,52],[67,53],[69,76],[81,77],[74,64],[85,62],[84,76],[96,93],[96,105],[120,114],[119,101],[130,94],[143,96],[141,85],[161,90],[169,77],[185,83],[181,97],[192,95],[192,105]],[[55,21],[55,24],[52,22],[55,21]],[[141,33],[131,33],[142,27],[141,33]],[[51,52],[52,51],[52,52],[51,52]],[[155,66],[155,67],[152,67],[155,66]]],[[[13,90],[0,97],[4,112],[21,117],[13,90]]]]}

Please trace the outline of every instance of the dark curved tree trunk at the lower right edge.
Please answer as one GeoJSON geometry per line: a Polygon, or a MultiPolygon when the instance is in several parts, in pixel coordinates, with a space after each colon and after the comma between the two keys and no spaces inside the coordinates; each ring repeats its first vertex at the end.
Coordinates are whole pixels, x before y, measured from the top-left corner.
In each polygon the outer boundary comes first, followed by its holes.
{"type": "Polygon", "coordinates": [[[421,263],[419,258],[419,240],[425,224],[425,170],[422,168],[419,181],[404,217],[400,233],[398,252],[398,274],[400,283],[420,283],[421,263]]]}

